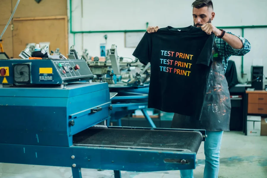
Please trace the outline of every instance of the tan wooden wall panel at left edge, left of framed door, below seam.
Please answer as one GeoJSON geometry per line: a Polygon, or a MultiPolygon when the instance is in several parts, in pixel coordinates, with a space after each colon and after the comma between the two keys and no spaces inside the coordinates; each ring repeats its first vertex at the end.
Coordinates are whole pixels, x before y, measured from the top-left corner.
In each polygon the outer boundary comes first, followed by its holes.
{"type": "MultiPolygon", "coordinates": [[[[0,25],[0,34],[4,30],[5,25],[0,25]]],[[[3,49],[4,52],[7,53],[7,55],[10,57],[13,57],[13,42],[12,42],[12,30],[11,25],[7,27],[7,30],[5,31],[3,37],[3,49]]]]}

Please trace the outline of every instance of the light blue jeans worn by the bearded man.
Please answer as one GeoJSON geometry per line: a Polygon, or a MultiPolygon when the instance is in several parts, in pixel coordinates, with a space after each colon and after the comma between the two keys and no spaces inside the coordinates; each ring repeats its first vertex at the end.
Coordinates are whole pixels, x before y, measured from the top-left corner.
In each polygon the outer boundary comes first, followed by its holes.
{"type": "MultiPolygon", "coordinates": [[[[220,148],[223,131],[206,131],[204,142],[205,169],[204,178],[217,178],[220,164],[220,148]]],[[[193,169],[180,170],[181,178],[193,178],[193,169]]]]}

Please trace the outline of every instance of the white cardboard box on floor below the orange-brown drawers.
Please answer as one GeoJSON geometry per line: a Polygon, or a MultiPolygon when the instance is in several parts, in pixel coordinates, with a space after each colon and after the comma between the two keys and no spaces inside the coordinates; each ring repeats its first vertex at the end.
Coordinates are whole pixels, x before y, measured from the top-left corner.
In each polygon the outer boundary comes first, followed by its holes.
{"type": "Polygon", "coordinates": [[[247,135],[260,136],[260,116],[247,116],[247,135]]]}

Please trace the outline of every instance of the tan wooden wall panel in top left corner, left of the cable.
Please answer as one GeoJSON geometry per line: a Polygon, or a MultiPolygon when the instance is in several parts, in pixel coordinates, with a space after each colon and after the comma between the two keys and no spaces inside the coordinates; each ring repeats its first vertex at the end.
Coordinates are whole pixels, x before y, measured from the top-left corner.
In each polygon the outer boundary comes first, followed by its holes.
{"type": "MultiPolygon", "coordinates": [[[[7,22],[12,14],[11,6],[11,0],[0,0],[0,25],[7,25],[7,22]]],[[[2,31],[0,31],[0,34],[1,33],[2,31]]]]}

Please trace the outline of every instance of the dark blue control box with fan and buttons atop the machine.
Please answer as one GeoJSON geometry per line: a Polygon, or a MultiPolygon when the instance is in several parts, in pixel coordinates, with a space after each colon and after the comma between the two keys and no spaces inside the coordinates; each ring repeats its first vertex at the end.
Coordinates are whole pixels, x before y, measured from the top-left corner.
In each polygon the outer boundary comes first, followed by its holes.
{"type": "Polygon", "coordinates": [[[62,84],[93,78],[90,68],[82,59],[0,61],[1,84],[62,84]]]}

